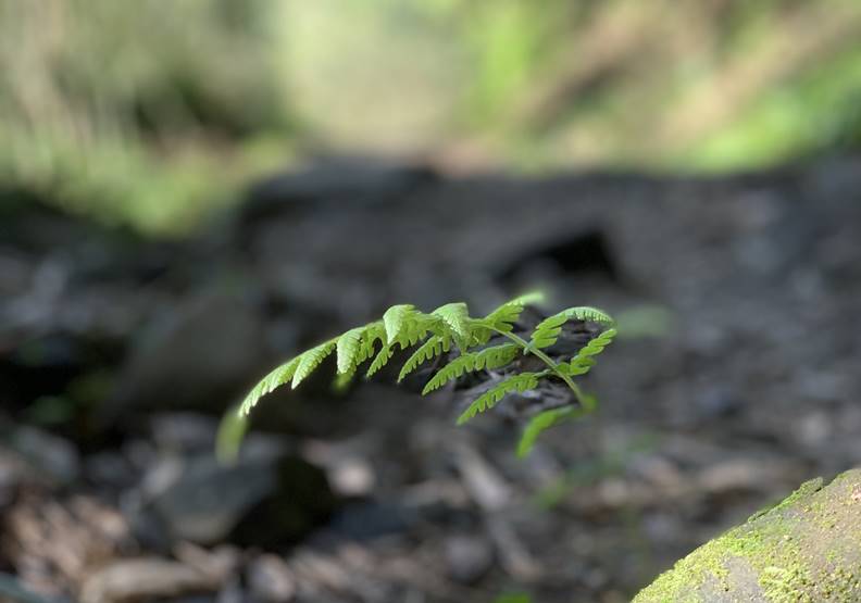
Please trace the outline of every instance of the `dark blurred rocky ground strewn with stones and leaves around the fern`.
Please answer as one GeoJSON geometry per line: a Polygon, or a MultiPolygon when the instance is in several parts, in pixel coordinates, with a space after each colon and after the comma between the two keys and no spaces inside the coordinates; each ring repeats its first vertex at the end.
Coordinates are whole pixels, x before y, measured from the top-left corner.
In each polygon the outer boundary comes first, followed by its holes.
{"type": "Polygon", "coordinates": [[[858,160],[710,180],[328,162],[184,242],[3,196],[0,596],[621,602],[861,464],[858,160]],[[535,286],[622,337],[585,382],[600,412],[525,461],[507,405],[456,428],[457,395],[386,375],[273,394],[215,460],[219,417],[279,360],[392,303],[477,314],[535,286]]]}

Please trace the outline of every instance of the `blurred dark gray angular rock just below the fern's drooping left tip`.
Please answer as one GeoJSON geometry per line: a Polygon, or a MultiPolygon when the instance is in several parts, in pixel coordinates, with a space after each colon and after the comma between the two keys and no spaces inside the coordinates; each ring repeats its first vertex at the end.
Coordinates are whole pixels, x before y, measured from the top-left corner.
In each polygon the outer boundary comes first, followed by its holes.
{"type": "Polygon", "coordinates": [[[247,447],[235,464],[211,453],[164,461],[141,483],[127,512],[141,539],[158,544],[225,539],[269,545],[300,538],[334,507],[325,474],[303,458],[247,447]]]}

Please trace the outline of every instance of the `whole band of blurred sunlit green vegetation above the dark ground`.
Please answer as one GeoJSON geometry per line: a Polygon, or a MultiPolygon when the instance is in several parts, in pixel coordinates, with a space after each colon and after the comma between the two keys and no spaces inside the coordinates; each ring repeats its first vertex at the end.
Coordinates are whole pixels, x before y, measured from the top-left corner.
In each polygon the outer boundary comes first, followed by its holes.
{"type": "Polygon", "coordinates": [[[153,233],[310,151],[725,172],[859,106],[857,0],[0,0],[0,185],[153,233]]]}

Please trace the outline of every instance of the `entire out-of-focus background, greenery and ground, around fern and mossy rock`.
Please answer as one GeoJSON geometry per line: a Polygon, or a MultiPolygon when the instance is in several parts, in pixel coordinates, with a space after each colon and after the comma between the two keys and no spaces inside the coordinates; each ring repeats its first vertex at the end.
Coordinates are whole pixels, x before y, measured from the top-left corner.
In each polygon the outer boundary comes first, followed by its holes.
{"type": "Polygon", "coordinates": [[[0,593],[628,600],[861,460],[859,151],[854,0],[0,0],[0,593]],[[623,337],[528,461],[385,378],[216,461],[534,286],[623,337]]]}

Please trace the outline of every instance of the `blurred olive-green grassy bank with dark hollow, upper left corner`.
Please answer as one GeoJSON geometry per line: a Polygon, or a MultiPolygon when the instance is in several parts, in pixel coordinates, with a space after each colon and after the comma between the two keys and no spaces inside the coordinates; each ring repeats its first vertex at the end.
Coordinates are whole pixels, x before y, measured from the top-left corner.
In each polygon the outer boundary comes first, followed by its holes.
{"type": "Polygon", "coordinates": [[[186,230],[289,130],[255,4],[0,0],[3,184],[186,230]]]}

